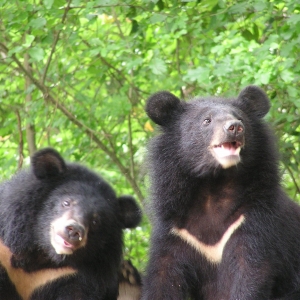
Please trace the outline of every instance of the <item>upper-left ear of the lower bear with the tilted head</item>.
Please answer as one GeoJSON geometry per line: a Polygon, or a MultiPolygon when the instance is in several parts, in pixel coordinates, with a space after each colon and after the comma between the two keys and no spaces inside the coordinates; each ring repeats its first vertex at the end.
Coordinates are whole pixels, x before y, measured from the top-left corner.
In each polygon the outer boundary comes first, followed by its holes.
{"type": "Polygon", "coordinates": [[[60,154],[51,148],[37,151],[31,158],[34,175],[39,179],[47,179],[66,171],[66,163],[60,154]]]}

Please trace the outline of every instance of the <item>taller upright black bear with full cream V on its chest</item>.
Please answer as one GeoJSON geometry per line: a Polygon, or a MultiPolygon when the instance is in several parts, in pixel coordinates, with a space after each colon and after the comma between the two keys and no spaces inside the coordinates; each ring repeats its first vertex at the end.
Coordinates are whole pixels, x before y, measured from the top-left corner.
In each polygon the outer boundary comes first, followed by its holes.
{"type": "Polygon", "coordinates": [[[143,300],[300,299],[300,208],[280,187],[266,94],[146,104],[153,233],[143,300]]]}

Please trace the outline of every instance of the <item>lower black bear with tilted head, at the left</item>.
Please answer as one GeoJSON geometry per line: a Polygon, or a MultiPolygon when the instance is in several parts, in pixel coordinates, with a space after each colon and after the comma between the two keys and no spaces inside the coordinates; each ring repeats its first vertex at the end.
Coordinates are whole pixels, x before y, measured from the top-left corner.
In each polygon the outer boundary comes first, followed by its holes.
{"type": "Polygon", "coordinates": [[[0,299],[116,300],[131,196],[51,148],[0,185],[0,299]]]}

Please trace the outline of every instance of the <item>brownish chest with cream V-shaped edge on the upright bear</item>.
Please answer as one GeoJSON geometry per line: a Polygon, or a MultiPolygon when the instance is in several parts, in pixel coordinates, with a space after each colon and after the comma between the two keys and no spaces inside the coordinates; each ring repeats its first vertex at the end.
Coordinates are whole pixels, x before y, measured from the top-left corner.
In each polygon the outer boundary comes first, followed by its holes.
{"type": "Polygon", "coordinates": [[[232,234],[245,221],[235,191],[203,191],[186,210],[185,217],[172,228],[178,236],[209,261],[218,263],[232,234]]]}

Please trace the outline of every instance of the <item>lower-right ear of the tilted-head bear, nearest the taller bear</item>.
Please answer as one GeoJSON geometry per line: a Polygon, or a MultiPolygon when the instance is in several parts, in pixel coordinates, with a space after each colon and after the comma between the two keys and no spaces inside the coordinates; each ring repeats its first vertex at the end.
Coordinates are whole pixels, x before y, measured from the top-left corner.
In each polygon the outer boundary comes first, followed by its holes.
{"type": "Polygon", "coordinates": [[[142,219],[142,212],[131,196],[121,196],[119,201],[119,219],[123,228],[135,228],[142,219]]]}

